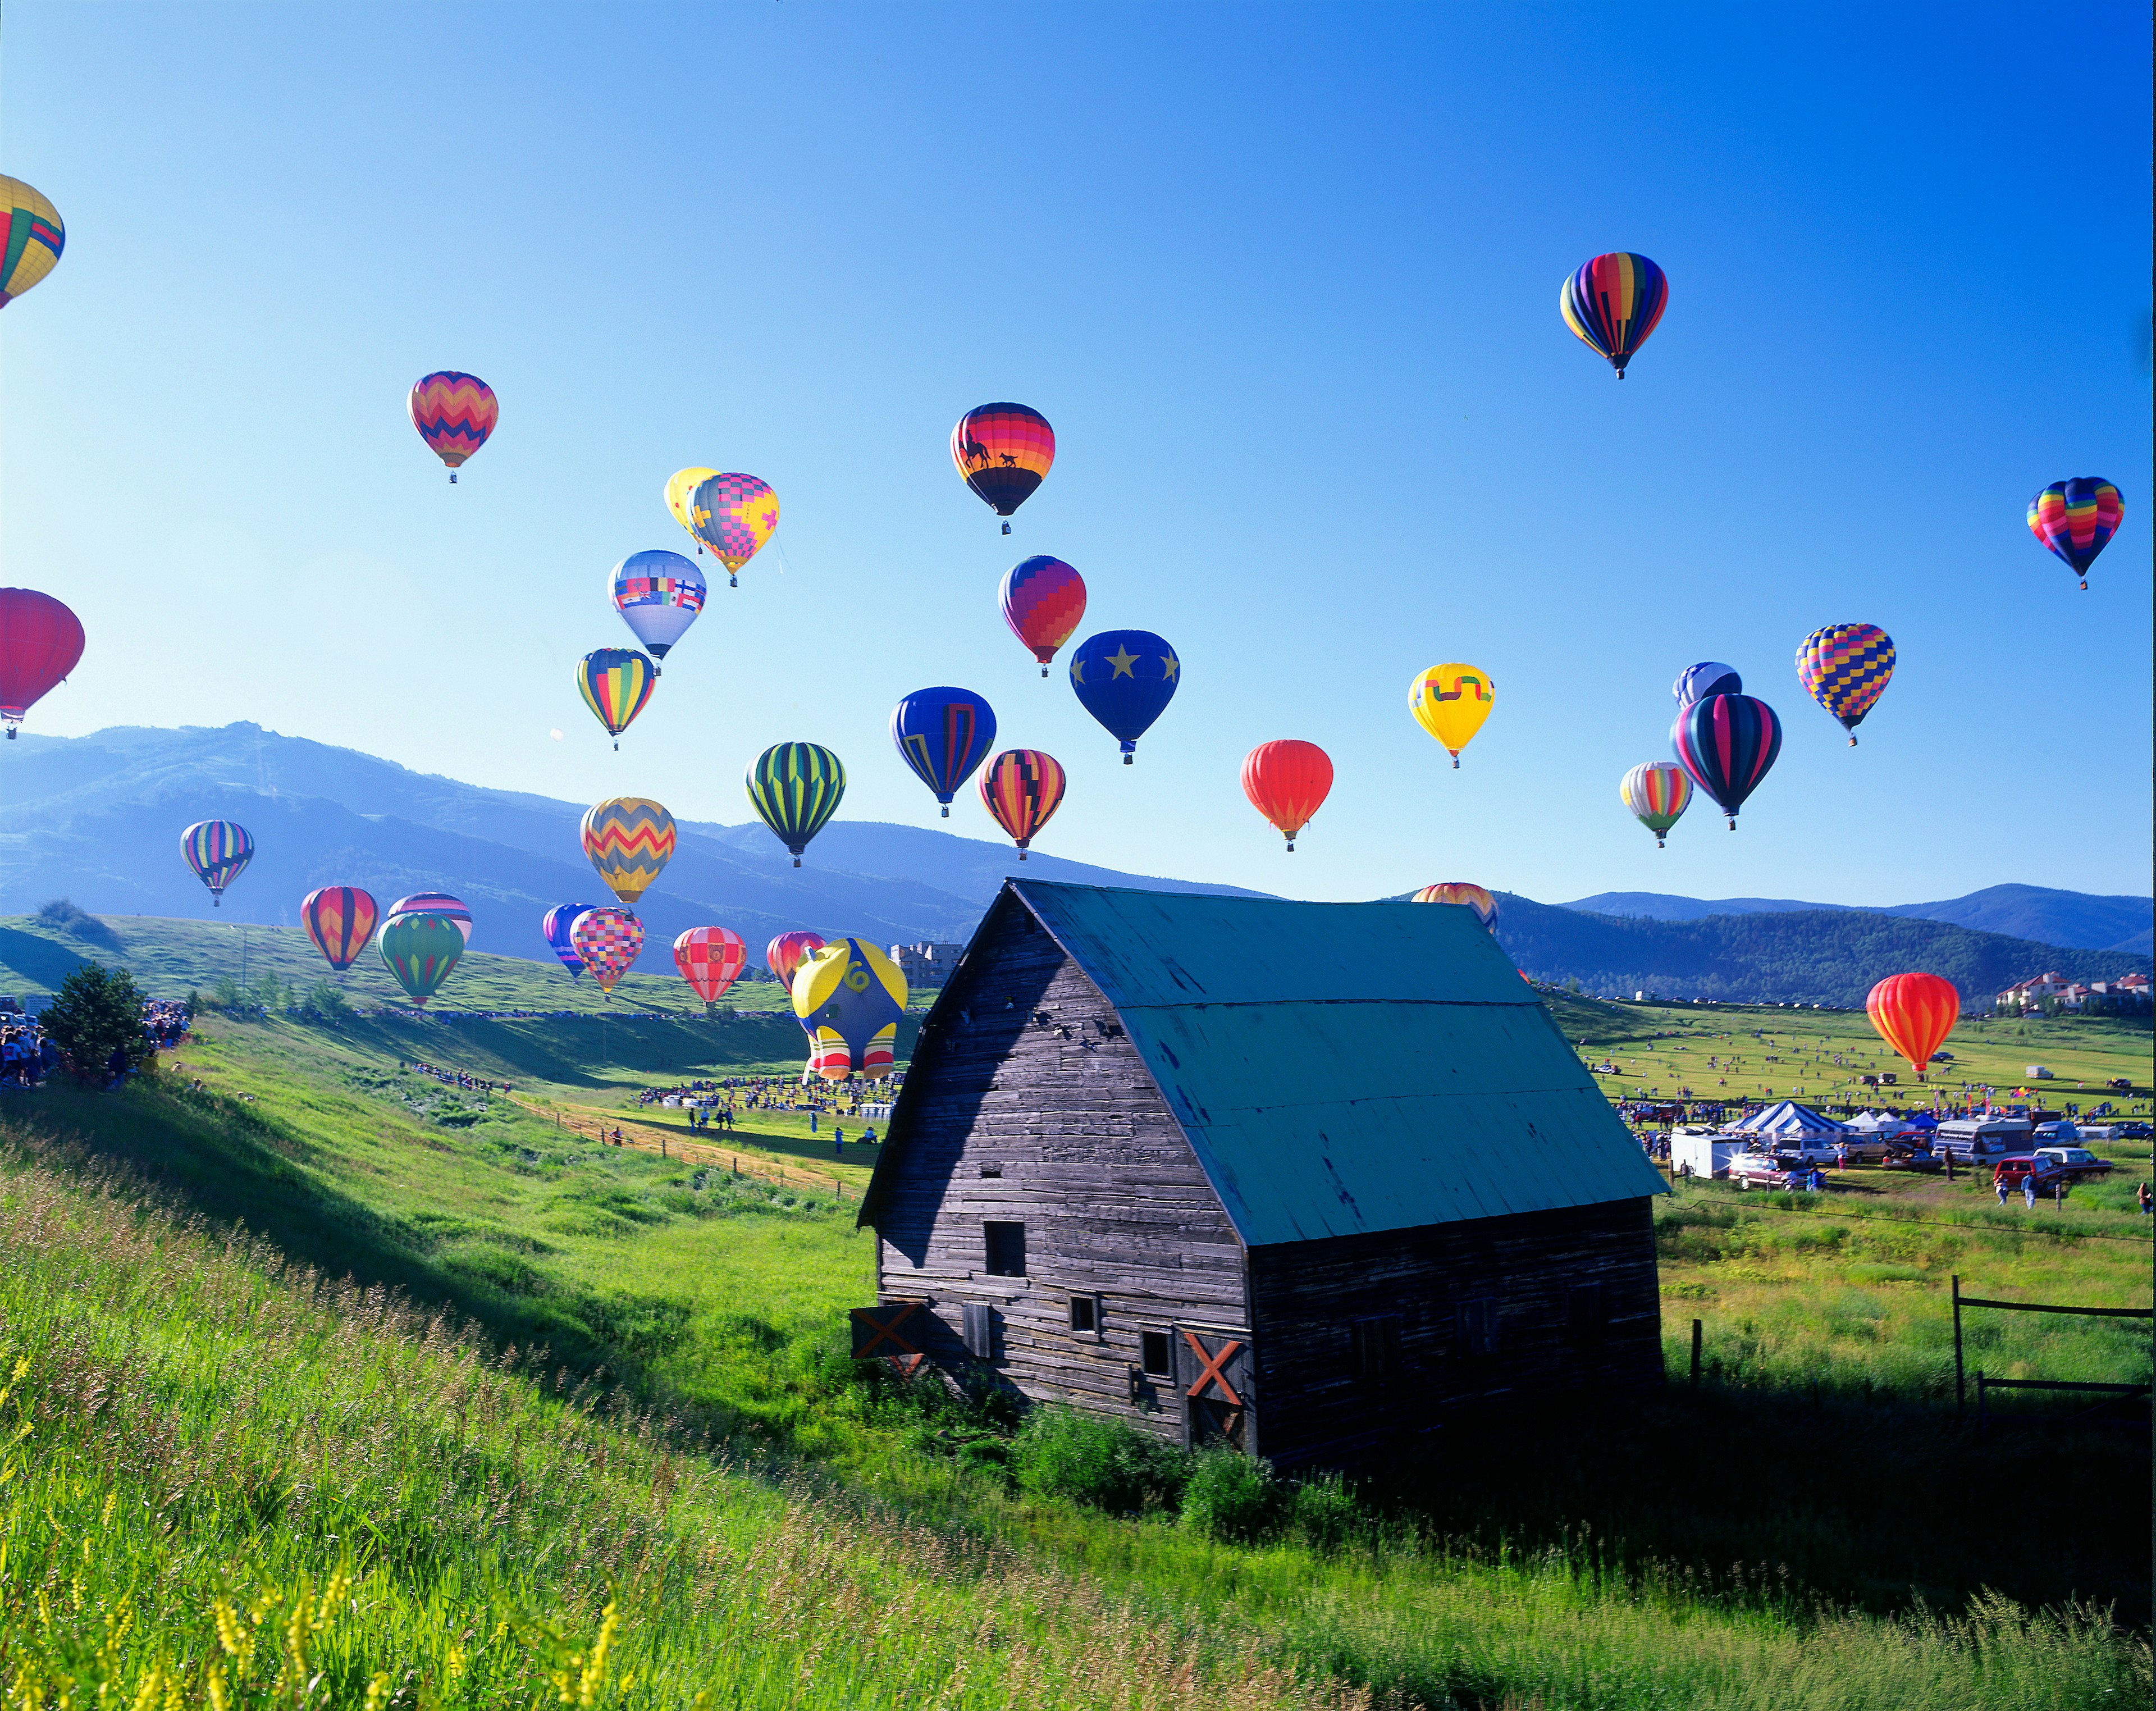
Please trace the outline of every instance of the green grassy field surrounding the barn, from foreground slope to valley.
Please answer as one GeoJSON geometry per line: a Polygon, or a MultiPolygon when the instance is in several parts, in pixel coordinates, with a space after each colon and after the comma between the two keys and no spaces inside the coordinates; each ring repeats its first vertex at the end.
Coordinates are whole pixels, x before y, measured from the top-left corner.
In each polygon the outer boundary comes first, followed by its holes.
{"type": "MultiPolygon", "coordinates": [[[[1595,1016],[1587,1055],[1682,1068],[1708,1042],[1680,1023],[1746,1057],[1751,1027],[1777,1055],[1863,1027],[1561,1005],[1572,1038],[1595,1016]]],[[[690,1146],[632,1105],[796,1066],[787,1018],[211,1016],[121,1094],[0,1094],[13,1702],[2150,1698],[2145,1433],[2055,1411],[1977,1441],[1945,1305],[1949,1275],[2145,1305],[2130,1182],[2033,1219],[1880,1172],[1809,1206],[1695,1187],[1658,1243],[1680,1379],[1708,1327],[1699,1392],[1464,1426],[1240,1534],[1041,1495],[1005,1422],[854,1368],[871,1159],[830,1156],[830,1113],[690,1146]],[[563,1126],[595,1111],[642,1144],[563,1126]],[[2037,1454],[2070,1472],[2033,1480],[2037,1454]]],[[[1988,1372],[2150,1374],[2145,1329],[1992,1318],[1988,1372]]]]}

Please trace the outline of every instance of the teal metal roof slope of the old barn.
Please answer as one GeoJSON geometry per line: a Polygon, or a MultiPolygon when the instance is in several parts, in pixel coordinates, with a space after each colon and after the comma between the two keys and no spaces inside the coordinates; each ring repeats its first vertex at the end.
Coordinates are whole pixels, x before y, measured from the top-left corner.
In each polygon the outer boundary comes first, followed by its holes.
{"type": "Polygon", "coordinates": [[[1664,1193],[1475,913],[1009,880],[1250,1247],[1664,1193]]]}

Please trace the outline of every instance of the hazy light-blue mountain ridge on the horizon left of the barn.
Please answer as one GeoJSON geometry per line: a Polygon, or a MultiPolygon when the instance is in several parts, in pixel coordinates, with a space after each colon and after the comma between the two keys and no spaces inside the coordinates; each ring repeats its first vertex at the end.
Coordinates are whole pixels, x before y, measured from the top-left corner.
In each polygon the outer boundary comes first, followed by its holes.
{"type": "MultiPolygon", "coordinates": [[[[578,848],[582,803],[483,790],[392,762],[278,736],[116,727],[0,744],[0,913],[69,898],[93,915],[164,915],[298,926],[317,885],[362,885],[384,904],[453,891],[472,908],[472,949],[550,962],[539,917],[561,902],[610,902],[578,848]],[[239,820],[257,854],[222,911],[181,865],[192,820],[239,820]]],[[[673,977],[683,928],[731,926],[761,952],[811,928],[875,943],[964,941],[1005,874],[1076,885],[1214,891],[1121,874],[942,831],[834,820],[804,867],[761,824],[681,822],[664,878],[645,893],[638,969],[673,977]]]]}

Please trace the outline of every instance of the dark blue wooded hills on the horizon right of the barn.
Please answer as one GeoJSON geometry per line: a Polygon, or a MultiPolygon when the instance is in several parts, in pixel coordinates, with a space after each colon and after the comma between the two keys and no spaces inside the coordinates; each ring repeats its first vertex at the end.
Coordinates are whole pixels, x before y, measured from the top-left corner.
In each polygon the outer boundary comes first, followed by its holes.
{"type": "Polygon", "coordinates": [[[2057,969],[2109,980],[2150,958],[1973,932],[1947,921],[1858,908],[1755,911],[1699,919],[1589,915],[1505,895],[1498,943],[1537,980],[1578,980],[1589,993],[1660,993],[1727,1003],[1861,1005],[1891,973],[1945,975],[1968,1005],[1988,1005],[2016,980],[2057,969]]]}

